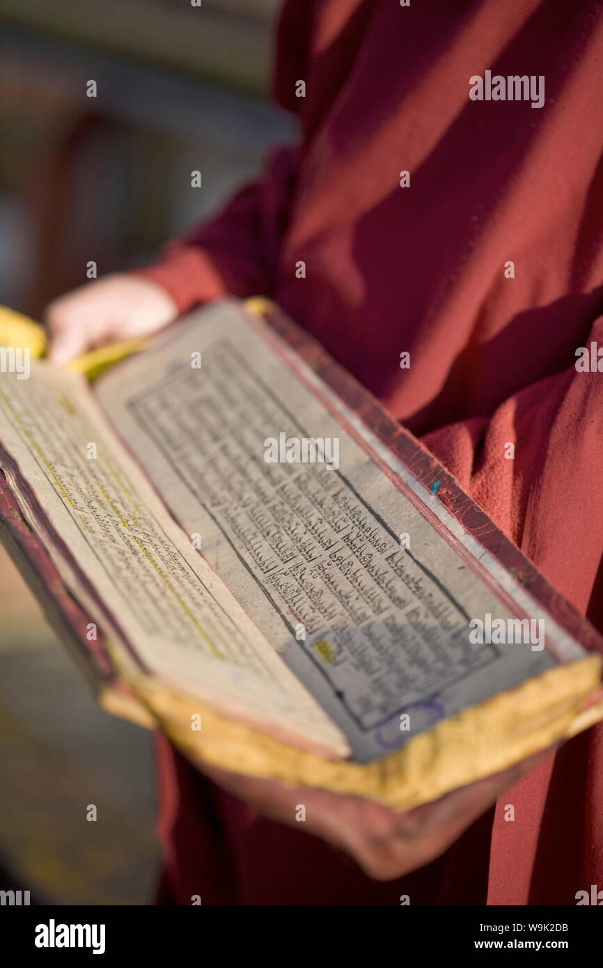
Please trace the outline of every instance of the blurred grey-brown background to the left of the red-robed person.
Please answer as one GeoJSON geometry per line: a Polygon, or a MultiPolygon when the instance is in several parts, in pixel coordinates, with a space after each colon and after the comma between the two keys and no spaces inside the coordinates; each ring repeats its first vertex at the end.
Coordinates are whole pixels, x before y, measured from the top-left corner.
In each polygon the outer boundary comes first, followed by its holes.
{"type": "MultiPolygon", "coordinates": [[[[193,2],[0,3],[0,304],[40,318],[86,262],[148,261],[290,136],[267,101],[281,0],[193,2]]],[[[0,791],[0,888],[152,900],[152,737],[97,709],[1,548],[0,791]]]]}

